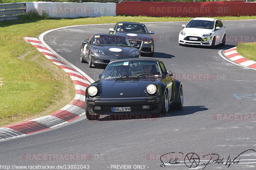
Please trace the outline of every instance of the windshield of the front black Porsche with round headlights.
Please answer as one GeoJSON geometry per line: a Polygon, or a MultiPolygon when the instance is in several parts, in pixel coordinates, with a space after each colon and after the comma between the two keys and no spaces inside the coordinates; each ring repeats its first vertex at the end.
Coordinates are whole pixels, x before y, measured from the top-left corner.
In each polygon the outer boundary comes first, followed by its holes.
{"type": "Polygon", "coordinates": [[[101,79],[113,77],[139,77],[161,75],[156,61],[151,60],[126,60],[109,64],[103,72],[101,79]]]}

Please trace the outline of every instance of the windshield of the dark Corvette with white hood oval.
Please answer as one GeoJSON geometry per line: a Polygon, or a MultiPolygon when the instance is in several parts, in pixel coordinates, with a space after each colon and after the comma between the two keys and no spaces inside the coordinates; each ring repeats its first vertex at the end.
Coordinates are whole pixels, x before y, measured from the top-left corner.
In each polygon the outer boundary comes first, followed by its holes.
{"type": "Polygon", "coordinates": [[[94,35],[92,38],[92,45],[131,47],[128,39],[124,36],[116,35],[94,35]]]}

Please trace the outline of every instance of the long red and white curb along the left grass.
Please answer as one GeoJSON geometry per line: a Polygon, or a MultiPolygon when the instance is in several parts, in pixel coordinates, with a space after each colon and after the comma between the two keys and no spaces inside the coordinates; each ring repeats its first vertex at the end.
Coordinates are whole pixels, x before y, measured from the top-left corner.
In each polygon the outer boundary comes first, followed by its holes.
{"type": "Polygon", "coordinates": [[[35,46],[36,49],[44,54],[47,59],[51,60],[54,64],[69,74],[76,88],[76,96],[68,105],[51,113],[50,115],[0,128],[0,140],[44,131],[61,124],[71,122],[85,113],[85,89],[91,84],[91,80],[88,80],[76,71],[76,69],[68,66],[65,62],[60,60],[38,39],[31,37],[24,37],[24,39],[35,46]]]}

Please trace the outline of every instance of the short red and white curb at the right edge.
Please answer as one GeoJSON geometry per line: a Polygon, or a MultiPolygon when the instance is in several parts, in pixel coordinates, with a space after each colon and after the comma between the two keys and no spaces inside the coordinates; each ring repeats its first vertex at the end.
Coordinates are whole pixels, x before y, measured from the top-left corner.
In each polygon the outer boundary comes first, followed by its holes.
{"type": "Polygon", "coordinates": [[[250,68],[256,68],[256,62],[246,59],[243,56],[241,56],[239,53],[237,53],[236,47],[226,50],[224,52],[224,54],[229,60],[231,60],[239,65],[242,65],[245,67],[250,67],[250,68]]]}

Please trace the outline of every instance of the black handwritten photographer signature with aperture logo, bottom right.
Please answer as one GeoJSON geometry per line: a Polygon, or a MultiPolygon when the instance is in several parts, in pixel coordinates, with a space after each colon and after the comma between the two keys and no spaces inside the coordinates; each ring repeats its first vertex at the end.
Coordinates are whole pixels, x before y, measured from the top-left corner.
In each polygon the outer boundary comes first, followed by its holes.
{"type": "MultiPolygon", "coordinates": [[[[244,154],[245,152],[255,152],[256,151],[254,149],[248,149],[242,153],[240,153],[238,156],[235,157],[235,159],[231,159],[230,156],[228,156],[228,159],[224,159],[224,158],[220,158],[219,154],[216,153],[210,153],[210,154],[206,154],[204,155],[202,158],[210,158],[210,160],[204,160],[203,163],[200,163],[200,158],[196,153],[188,153],[185,157],[184,157],[184,164],[189,167],[189,168],[195,168],[198,165],[204,165],[204,168],[206,166],[208,166],[209,164],[224,164],[225,166],[231,166],[231,165],[235,165],[235,164],[239,164],[240,162],[240,158],[239,156],[241,156],[242,154],[244,154]]],[[[166,165],[177,165],[179,164],[181,161],[178,161],[178,158],[176,159],[170,159],[167,162],[163,161],[164,157],[168,157],[170,156],[170,154],[175,154],[175,152],[170,152],[170,153],[165,153],[160,157],[160,161],[162,162],[162,164],[160,165],[161,167],[165,167],[166,165]]],[[[179,152],[179,154],[184,155],[183,153],[179,152]]],[[[204,169],[203,168],[203,169],[204,169]]]]}

